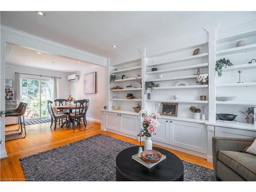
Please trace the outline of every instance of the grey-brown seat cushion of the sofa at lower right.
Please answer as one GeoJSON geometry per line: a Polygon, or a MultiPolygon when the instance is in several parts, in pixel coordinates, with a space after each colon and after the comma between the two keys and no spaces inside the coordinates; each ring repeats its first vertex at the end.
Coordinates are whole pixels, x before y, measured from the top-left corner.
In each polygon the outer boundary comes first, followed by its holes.
{"type": "Polygon", "coordinates": [[[256,181],[256,156],[240,152],[220,151],[218,159],[247,181],[256,181]]]}

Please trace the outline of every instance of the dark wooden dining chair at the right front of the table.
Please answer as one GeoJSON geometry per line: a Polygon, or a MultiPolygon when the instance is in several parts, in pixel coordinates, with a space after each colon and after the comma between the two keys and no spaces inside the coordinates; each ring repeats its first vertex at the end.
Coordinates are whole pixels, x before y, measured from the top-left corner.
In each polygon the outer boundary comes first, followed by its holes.
{"type": "Polygon", "coordinates": [[[88,110],[89,99],[76,100],[75,112],[69,114],[69,118],[72,119],[73,129],[75,129],[75,122],[80,125],[80,121],[83,121],[84,127],[87,125],[86,112],[88,110]]]}

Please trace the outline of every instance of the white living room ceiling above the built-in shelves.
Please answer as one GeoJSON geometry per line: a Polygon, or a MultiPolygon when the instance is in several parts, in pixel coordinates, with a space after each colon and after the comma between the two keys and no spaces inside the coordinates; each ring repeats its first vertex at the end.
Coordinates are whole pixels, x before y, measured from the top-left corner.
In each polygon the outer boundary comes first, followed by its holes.
{"type": "Polygon", "coordinates": [[[224,22],[255,19],[255,12],[1,12],[1,24],[104,57],[134,51],[224,22]],[[112,48],[116,45],[117,48],[112,48]]]}

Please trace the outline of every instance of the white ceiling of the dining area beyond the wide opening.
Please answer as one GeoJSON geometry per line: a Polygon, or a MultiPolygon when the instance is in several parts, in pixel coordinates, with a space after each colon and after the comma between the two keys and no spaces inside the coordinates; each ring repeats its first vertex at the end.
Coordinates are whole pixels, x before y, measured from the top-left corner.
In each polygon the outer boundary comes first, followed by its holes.
{"type": "Polygon", "coordinates": [[[6,47],[7,65],[53,70],[63,73],[73,73],[81,69],[95,66],[91,63],[83,61],[79,63],[79,61],[75,59],[41,52],[40,50],[28,49],[14,44],[7,44],[6,47]],[[37,54],[37,51],[42,54],[37,54]]]}

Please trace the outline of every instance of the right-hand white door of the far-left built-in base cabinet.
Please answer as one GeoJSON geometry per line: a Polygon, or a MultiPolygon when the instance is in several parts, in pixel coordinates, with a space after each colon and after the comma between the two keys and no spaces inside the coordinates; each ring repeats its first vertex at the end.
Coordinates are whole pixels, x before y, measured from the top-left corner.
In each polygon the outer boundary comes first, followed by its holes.
{"type": "Polygon", "coordinates": [[[137,136],[138,116],[120,114],[120,132],[137,136]]]}

